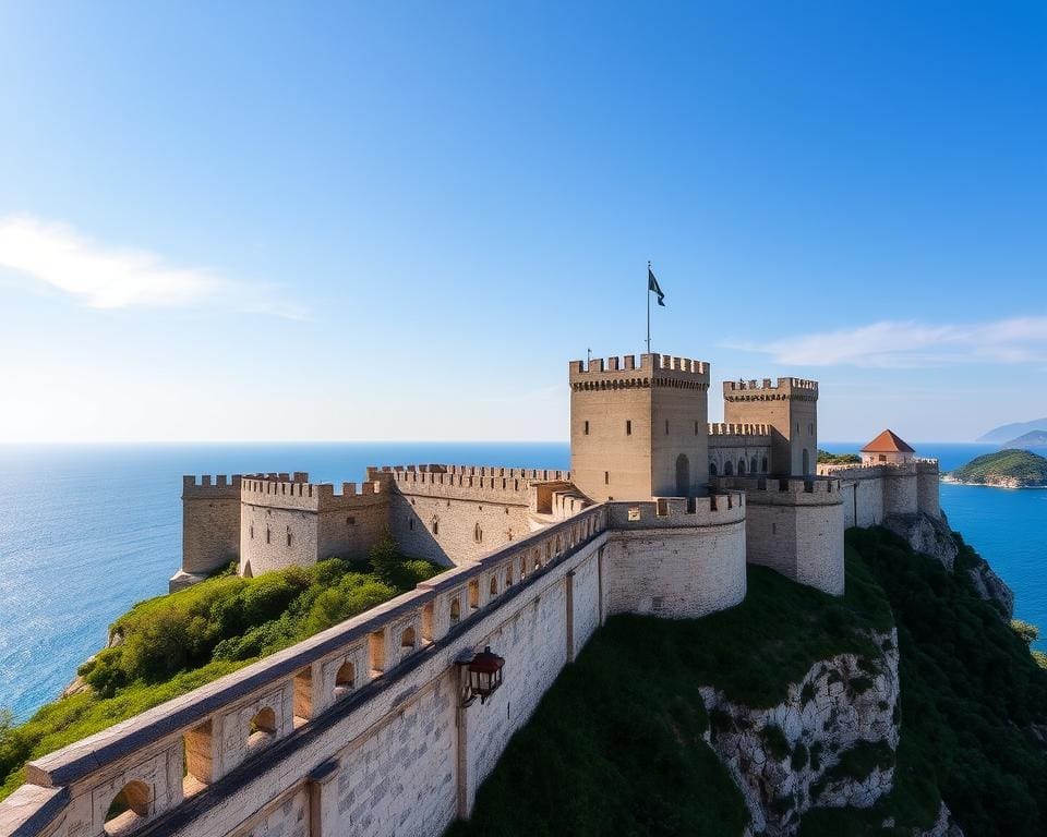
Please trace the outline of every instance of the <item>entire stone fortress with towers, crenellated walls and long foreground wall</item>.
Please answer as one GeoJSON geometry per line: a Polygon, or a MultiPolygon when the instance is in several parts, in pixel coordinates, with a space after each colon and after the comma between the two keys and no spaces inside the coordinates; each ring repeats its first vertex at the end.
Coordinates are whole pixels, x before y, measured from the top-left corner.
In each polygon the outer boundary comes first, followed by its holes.
{"type": "Polygon", "coordinates": [[[727,381],[663,354],[569,366],[571,470],[370,468],[184,477],[172,591],[358,557],[386,531],[448,569],[290,648],[32,762],[0,835],[436,835],[558,671],[619,612],[738,604],[746,563],[832,595],[843,532],[940,517],[938,464],[890,432],[859,465],[817,465],[818,385],[727,381]],[[815,473],[817,471],[817,474],[815,473]],[[501,688],[471,700],[490,646],[501,688]],[[106,821],[123,793],[130,810],[106,821]]]}

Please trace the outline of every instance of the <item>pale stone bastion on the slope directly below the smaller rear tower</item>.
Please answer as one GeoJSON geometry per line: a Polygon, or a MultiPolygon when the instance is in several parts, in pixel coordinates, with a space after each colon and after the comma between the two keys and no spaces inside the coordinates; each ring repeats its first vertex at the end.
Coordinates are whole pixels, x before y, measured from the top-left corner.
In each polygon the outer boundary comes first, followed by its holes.
{"type": "Polygon", "coordinates": [[[745,493],[746,559],[785,578],[843,595],[843,495],[833,477],[726,476],[745,493]]]}

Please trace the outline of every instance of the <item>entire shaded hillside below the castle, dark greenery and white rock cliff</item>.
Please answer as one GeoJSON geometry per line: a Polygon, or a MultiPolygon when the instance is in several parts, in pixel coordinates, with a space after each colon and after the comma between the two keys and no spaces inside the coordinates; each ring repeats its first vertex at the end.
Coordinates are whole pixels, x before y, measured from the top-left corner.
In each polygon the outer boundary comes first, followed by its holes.
{"type": "Polygon", "coordinates": [[[449,834],[758,833],[761,794],[768,835],[943,835],[950,810],[967,835],[1044,834],[1047,672],[978,595],[967,570],[980,559],[958,546],[949,571],[886,530],[852,530],[844,599],[750,568],[729,611],[610,619],[449,834]],[[863,695],[890,679],[892,653],[871,640],[892,622],[900,699],[884,694],[870,716],[863,695]],[[841,670],[840,655],[855,665],[841,670]],[[838,735],[805,744],[805,701],[820,705],[825,689],[843,700],[826,719],[838,735]],[[849,705],[852,718],[839,717],[849,705]],[[840,745],[840,730],[884,714],[896,750],[890,736],[840,745]]]}

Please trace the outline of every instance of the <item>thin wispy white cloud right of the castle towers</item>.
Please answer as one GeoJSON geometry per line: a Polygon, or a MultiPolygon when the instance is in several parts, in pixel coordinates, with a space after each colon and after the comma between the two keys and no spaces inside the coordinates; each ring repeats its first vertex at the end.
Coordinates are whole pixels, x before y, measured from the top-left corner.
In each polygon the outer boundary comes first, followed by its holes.
{"type": "Polygon", "coordinates": [[[919,368],[971,362],[1044,363],[1047,316],[948,325],[887,320],[766,343],[727,345],[797,366],[919,368]]]}

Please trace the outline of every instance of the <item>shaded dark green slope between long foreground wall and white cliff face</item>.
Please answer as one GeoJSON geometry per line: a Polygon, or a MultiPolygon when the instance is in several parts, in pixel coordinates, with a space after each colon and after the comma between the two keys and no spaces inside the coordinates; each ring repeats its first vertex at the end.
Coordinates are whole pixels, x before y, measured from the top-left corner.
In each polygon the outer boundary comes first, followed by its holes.
{"type": "Polygon", "coordinates": [[[745,602],[703,619],[617,616],[545,693],[480,788],[471,835],[731,835],[748,822],[741,791],[701,740],[698,688],[773,706],[810,666],[878,654],[887,599],[849,560],[843,598],[748,570],[745,602]]]}

